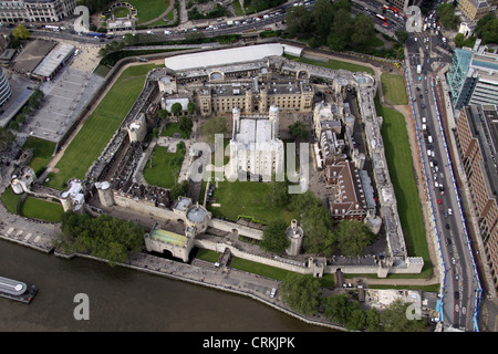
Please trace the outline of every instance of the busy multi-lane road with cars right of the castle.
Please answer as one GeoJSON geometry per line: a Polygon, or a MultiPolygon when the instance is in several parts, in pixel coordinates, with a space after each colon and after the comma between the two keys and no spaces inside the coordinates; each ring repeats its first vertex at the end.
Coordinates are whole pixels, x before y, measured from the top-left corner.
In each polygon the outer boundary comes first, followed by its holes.
{"type": "Polygon", "coordinates": [[[446,103],[435,70],[449,62],[450,58],[435,52],[443,40],[435,35],[434,29],[430,31],[412,34],[406,48],[411,96],[433,208],[433,226],[439,237],[445,270],[442,320],[448,326],[474,331],[479,284],[438,115],[445,114],[446,103]],[[421,65],[419,73],[417,65],[421,65]]]}

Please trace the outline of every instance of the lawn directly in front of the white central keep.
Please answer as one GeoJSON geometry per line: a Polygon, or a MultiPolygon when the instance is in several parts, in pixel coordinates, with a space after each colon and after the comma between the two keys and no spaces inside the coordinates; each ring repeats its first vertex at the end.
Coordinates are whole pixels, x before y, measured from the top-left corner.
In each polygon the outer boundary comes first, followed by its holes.
{"type": "Polygon", "coordinates": [[[224,180],[218,183],[218,188],[215,189],[216,202],[220,204],[220,207],[211,205],[207,207],[214,216],[232,221],[237,221],[238,217],[243,215],[267,223],[278,219],[290,223],[295,217],[293,212],[273,207],[266,201],[269,189],[268,183],[224,180]]]}

